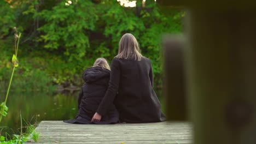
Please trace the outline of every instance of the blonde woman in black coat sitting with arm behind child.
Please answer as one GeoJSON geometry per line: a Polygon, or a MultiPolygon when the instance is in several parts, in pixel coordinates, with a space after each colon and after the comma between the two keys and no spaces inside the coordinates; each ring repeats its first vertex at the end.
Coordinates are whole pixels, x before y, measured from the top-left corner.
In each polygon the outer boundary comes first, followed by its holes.
{"type": "Polygon", "coordinates": [[[91,121],[101,121],[112,103],[119,111],[120,122],[165,121],[153,83],[149,59],[139,52],[136,38],[130,33],[124,34],[119,41],[118,55],[111,64],[107,92],[91,121]]]}

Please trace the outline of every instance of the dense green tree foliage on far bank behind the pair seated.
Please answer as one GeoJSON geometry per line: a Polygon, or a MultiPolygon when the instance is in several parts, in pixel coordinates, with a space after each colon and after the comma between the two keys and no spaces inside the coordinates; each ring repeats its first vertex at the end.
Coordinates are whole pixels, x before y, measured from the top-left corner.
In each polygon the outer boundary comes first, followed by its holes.
{"type": "Polygon", "coordinates": [[[10,75],[10,28],[18,25],[23,33],[18,70],[22,78],[16,77],[18,82],[13,85],[21,89],[27,83],[37,89],[49,84],[81,85],[83,70],[98,57],[110,62],[125,33],[135,35],[142,54],[152,61],[156,86],[161,86],[161,35],[181,33],[185,15],[179,10],[161,10],[152,0],[145,7],[138,1],[136,8],[125,8],[116,0],[0,3],[4,5],[0,14],[5,14],[0,20],[0,86],[6,87],[5,77],[10,75]]]}

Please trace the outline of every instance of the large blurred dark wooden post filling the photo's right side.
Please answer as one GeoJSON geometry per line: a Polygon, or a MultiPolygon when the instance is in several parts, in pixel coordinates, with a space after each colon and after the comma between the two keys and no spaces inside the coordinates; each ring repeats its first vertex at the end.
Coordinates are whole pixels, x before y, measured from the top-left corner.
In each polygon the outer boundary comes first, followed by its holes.
{"type": "Polygon", "coordinates": [[[195,144],[256,143],[256,5],[242,2],[168,2],[187,8],[184,61],[195,144]]]}

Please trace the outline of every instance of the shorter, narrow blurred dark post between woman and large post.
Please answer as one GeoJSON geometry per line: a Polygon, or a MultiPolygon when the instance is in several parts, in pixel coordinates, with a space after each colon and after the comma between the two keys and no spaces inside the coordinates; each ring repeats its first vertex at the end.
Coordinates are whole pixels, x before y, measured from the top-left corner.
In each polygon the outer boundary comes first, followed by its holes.
{"type": "Polygon", "coordinates": [[[185,98],[182,35],[165,35],[164,47],[166,116],[168,121],[187,120],[187,98],[185,98]]]}

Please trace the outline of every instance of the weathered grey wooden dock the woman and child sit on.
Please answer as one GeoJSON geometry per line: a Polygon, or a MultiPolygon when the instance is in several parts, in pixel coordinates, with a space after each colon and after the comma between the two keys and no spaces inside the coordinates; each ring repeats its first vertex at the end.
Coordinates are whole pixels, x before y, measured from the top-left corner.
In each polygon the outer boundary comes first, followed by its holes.
{"type": "Polygon", "coordinates": [[[183,122],[98,125],[42,121],[35,130],[40,133],[37,143],[192,143],[191,124],[183,122]]]}

